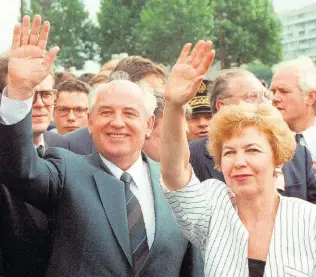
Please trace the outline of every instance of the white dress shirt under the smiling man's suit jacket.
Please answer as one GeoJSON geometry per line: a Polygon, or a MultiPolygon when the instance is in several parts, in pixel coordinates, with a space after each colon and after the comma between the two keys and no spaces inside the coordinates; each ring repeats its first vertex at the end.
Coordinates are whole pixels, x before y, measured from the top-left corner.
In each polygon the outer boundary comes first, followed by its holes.
{"type": "MultiPolygon", "coordinates": [[[[100,157],[104,164],[111,170],[113,175],[117,179],[121,179],[124,171],[101,155],[100,157]]],[[[129,169],[127,169],[126,172],[132,177],[130,188],[142,209],[147,233],[148,248],[150,249],[155,238],[155,209],[149,168],[140,155],[137,161],[129,169]]]]}

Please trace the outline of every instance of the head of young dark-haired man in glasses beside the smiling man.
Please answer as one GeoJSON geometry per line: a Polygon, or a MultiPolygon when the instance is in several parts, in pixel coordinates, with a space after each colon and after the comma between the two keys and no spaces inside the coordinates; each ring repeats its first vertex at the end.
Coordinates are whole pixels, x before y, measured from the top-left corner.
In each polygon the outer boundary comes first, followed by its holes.
{"type": "Polygon", "coordinates": [[[58,133],[65,135],[88,126],[90,87],[79,80],[69,80],[59,84],[56,89],[54,122],[58,133]]]}

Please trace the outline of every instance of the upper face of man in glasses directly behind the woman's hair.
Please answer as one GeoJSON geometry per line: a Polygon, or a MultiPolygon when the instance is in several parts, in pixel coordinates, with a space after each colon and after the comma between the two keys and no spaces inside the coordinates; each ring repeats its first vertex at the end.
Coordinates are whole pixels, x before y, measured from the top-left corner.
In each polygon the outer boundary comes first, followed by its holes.
{"type": "Polygon", "coordinates": [[[216,101],[217,110],[223,105],[238,105],[240,102],[260,103],[267,89],[253,75],[245,74],[228,80],[227,97],[216,101]],[[258,97],[257,97],[258,96],[258,97]]]}

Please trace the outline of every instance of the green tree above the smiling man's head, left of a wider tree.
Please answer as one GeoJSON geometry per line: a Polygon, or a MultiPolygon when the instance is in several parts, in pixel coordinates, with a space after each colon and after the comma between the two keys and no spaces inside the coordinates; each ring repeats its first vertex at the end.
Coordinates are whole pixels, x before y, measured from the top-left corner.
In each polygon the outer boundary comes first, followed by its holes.
{"type": "Polygon", "coordinates": [[[102,0],[97,15],[97,43],[102,61],[111,54],[127,52],[136,54],[133,28],[139,22],[139,14],[146,0],[102,0]]]}

